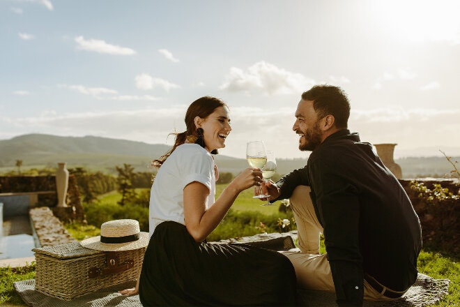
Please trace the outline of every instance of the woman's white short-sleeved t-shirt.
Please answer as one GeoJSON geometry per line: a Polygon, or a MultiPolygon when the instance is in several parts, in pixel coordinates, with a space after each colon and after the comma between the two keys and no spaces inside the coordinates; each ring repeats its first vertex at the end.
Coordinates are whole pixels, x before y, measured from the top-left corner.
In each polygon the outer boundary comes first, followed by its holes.
{"type": "Polygon", "coordinates": [[[208,209],[215,201],[214,159],[198,144],[179,145],[164,161],[152,184],[148,210],[150,237],[165,220],[185,225],[183,189],[193,181],[208,187],[208,209]]]}

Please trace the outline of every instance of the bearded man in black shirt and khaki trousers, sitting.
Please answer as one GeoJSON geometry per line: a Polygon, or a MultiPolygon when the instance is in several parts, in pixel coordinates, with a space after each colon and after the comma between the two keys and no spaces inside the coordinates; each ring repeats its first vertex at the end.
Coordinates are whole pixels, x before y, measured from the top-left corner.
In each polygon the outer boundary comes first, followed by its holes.
{"type": "MultiPolygon", "coordinates": [[[[401,297],[417,279],[420,221],[399,181],[371,144],[348,130],[350,105],[338,87],[302,93],[293,130],[307,165],[267,184],[290,198],[300,253],[286,252],[298,285],[335,291],[339,306],[401,297]],[[326,254],[319,255],[319,234],[326,254]]],[[[275,197],[275,198],[274,198],[275,197]]]]}

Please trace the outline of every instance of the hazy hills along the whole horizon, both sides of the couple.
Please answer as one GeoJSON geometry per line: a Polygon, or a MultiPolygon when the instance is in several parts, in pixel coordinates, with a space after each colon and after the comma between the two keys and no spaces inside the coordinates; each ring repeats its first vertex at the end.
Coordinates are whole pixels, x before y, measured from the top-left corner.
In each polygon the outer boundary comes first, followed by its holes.
{"type": "MultiPolygon", "coordinates": [[[[68,167],[85,167],[89,170],[115,172],[115,167],[128,163],[137,172],[152,171],[153,158],[169,149],[166,144],[147,144],[106,137],[59,137],[56,135],[29,134],[0,140],[0,172],[15,170],[16,160],[22,160],[22,169],[31,167],[56,167],[66,162],[68,167]]],[[[278,173],[286,174],[303,167],[305,159],[278,159],[278,173]]],[[[454,160],[460,160],[459,157],[454,160]]],[[[238,174],[247,167],[244,159],[216,155],[221,172],[238,174]]],[[[395,160],[401,165],[404,178],[442,177],[453,169],[444,157],[408,157],[395,160]]]]}

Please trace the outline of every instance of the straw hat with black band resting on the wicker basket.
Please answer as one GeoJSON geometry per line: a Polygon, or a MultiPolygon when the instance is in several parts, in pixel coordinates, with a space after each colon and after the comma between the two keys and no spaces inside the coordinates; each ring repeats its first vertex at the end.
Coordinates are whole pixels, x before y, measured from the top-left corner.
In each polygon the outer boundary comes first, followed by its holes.
{"type": "Polygon", "coordinates": [[[83,247],[103,251],[122,251],[144,248],[148,232],[141,232],[137,220],[109,220],[100,226],[100,236],[80,241],[83,247]]]}

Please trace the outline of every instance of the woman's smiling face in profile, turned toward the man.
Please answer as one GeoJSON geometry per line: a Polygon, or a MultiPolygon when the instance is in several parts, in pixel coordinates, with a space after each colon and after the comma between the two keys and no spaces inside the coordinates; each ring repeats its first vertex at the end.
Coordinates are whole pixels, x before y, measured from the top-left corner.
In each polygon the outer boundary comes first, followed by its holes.
{"type": "Polygon", "coordinates": [[[206,149],[213,151],[225,147],[225,139],[231,131],[230,115],[228,107],[217,107],[213,113],[201,121],[204,131],[206,149]]]}

